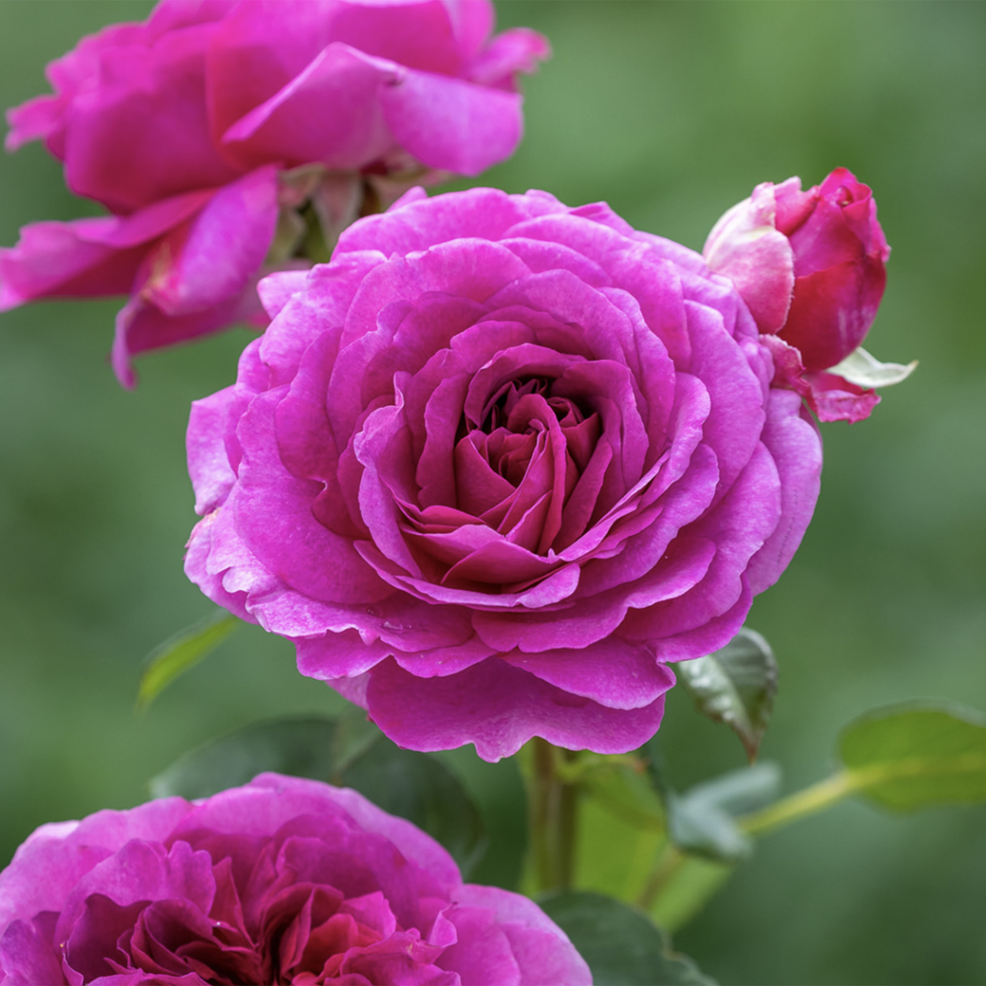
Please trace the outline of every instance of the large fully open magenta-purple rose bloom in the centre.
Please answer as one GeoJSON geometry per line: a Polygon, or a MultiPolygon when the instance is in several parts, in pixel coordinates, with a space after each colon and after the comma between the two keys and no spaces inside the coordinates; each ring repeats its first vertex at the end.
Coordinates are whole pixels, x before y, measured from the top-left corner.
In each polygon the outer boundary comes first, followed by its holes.
{"type": "Polygon", "coordinates": [[[808,526],[817,431],[732,281],[604,204],[419,189],[261,296],[185,570],[402,746],[639,746],[808,526]]]}

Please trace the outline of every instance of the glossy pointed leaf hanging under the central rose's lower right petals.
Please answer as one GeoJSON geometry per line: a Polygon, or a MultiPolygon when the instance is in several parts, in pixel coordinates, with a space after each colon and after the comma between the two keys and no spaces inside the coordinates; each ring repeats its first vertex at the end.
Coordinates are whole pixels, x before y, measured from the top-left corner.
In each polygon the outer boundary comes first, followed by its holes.
{"type": "Polygon", "coordinates": [[[777,694],[777,662],[763,637],[743,627],[721,651],[681,661],[675,670],[699,711],[726,723],[755,759],[777,694]]]}

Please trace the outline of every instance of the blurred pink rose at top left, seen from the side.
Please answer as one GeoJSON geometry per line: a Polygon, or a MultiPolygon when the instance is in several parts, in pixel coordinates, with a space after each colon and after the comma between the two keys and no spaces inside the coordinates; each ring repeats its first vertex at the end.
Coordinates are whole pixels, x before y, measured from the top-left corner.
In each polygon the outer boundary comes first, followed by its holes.
{"type": "Polygon", "coordinates": [[[128,385],[135,353],[262,326],[267,270],[327,258],[410,184],[513,153],[516,75],[548,47],[492,25],[488,0],[163,0],[83,38],[48,66],[53,95],[10,111],[7,147],[43,139],[113,215],[27,227],[0,250],[0,310],[129,294],[128,385]]]}

